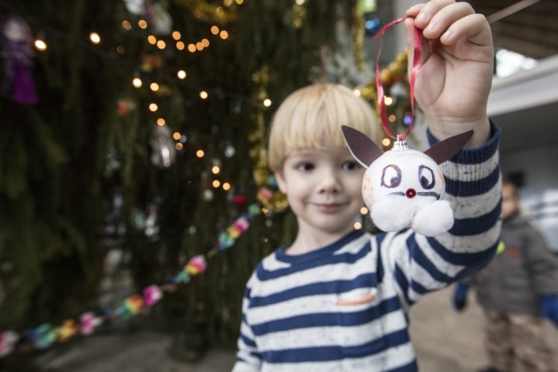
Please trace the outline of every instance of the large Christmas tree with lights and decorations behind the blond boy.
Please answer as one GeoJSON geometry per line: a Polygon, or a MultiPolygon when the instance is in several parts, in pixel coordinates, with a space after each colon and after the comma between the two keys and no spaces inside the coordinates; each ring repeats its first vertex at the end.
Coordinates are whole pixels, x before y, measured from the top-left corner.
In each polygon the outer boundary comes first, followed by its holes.
{"type": "Polygon", "coordinates": [[[359,22],[376,5],[0,0],[0,330],[97,309],[113,250],[137,291],[201,254],[205,274],[153,313],[234,345],[253,267],[296,234],[267,170],[267,123],[313,81],[362,89],[374,105],[359,22]],[[253,203],[250,229],[220,245],[253,203]]]}

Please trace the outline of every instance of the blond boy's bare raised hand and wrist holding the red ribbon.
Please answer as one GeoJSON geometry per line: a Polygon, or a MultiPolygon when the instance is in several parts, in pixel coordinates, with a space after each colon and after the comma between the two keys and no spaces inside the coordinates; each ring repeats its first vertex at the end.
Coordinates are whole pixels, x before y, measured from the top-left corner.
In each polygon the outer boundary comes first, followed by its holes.
{"type": "MultiPolygon", "coordinates": [[[[439,140],[475,130],[466,147],[490,136],[486,114],[492,86],[494,48],[491,28],[471,5],[432,0],[407,10],[408,50],[413,50],[414,26],[422,30],[422,61],[415,80],[415,99],[432,135],[439,140]]],[[[413,66],[409,52],[409,68],[413,66]]]]}

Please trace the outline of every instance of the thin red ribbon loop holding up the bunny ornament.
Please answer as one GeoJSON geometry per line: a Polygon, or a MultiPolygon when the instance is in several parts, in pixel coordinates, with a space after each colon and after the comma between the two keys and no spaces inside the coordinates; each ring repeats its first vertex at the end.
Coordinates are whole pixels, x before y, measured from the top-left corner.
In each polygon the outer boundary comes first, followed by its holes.
{"type": "Polygon", "coordinates": [[[415,121],[415,79],[416,79],[416,74],[418,73],[418,69],[421,66],[421,49],[422,49],[421,31],[417,27],[415,27],[413,70],[411,71],[411,79],[409,81],[409,89],[410,89],[410,96],[411,96],[410,97],[411,98],[411,122],[409,123],[405,135],[393,136],[391,134],[390,126],[388,124],[388,119],[387,119],[387,111],[385,109],[384,85],[382,85],[382,78],[380,77],[380,53],[382,53],[382,43],[384,41],[384,38],[382,36],[384,36],[384,32],[391,26],[397,25],[398,23],[404,21],[406,18],[407,17],[399,18],[391,21],[390,23],[382,27],[382,29],[378,31],[378,33],[374,36],[375,39],[377,37],[380,37],[380,49],[378,50],[378,55],[376,57],[376,89],[377,89],[377,96],[378,96],[378,108],[380,110],[380,119],[382,120],[382,126],[384,127],[384,131],[386,135],[390,136],[393,139],[398,139],[398,140],[399,139],[403,140],[405,139],[405,137],[408,136],[408,134],[411,132],[411,128],[413,128],[413,122],[415,121]]]}

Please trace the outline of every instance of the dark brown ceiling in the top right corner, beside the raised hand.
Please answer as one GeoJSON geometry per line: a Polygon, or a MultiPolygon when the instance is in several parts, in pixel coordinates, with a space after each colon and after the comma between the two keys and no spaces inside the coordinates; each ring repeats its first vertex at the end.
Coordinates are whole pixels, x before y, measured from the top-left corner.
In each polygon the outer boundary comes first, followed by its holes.
{"type": "Polygon", "coordinates": [[[512,50],[534,59],[558,54],[558,0],[468,2],[491,22],[496,49],[512,50]]]}

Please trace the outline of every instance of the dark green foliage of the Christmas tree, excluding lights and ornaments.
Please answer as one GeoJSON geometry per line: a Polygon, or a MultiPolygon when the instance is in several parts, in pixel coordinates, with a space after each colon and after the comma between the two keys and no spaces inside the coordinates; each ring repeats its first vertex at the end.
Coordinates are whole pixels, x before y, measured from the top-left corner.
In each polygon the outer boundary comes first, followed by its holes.
{"type": "MultiPolygon", "coordinates": [[[[96,304],[105,252],[105,220],[115,192],[123,198],[125,235],[111,236],[130,252],[137,291],[164,283],[185,259],[209,252],[221,229],[246,212],[233,194],[256,201],[252,180],[252,74],[268,66],[266,87],[274,106],[310,83],[319,48],[333,38],[335,4],[308,1],[304,17],[292,1],[246,1],[234,23],[219,25],[229,40],[210,33],[212,23],[168,2],[174,29],[186,44],[202,38],[210,46],[195,53],[147,43],[151,30],[112,0],[28,0],[0,12],[18,12],[34,32],[46,31],[49,49],[34,59],[40,104],[0,101],[0,329],[76,318],[96,304]],[[293,26],[293,19],[302,23],[293,26]],[[123,20],[133,25],[124,29],[123,20]],[[98,46],[89,32],[102,35],[98,46]],[[124,47],[123,54],[116,52],[124,47]],[[142,69],[146,56],[162,66],[142,69]],[[185,69],[188,77],[176,79],[185,69]],[[132,78],[140,74],[141,89],[132,78]],[[151,81],[162,92],[149,89],[151,81]],[[199,91],[209,93],[201,99],[199,91]],[[127,110],[118,112],[119,102],[127,110]],[[159,105],[158,112],[148,105],[159,105]],[[171,167],[151,164],[150,138],[165,118],[188,139],[171,167]],[[234,156],[225,155],[232,146],[234,156]],[[196,151],[205,151],[199,159],[196,151]],[[211,174],[215,162],[221,173],[211,174]],[[233,192],[213,189],[219,179],[233,192]],[[213,198],[204,198],[207,191],[213,198]],[[135,213],[158,209],[159,234],[146,236],[135,213]],[[4,314],[8,314],[7,316],[4,314]]],[[[205,329],[213,344],[233,345],[240,323],[244,284],[257,262],[296,233],[291,213],[257,216],[235,246],[209,260],[207,272],[168,294],[158,307],[174,329],[205,329]]]]}

